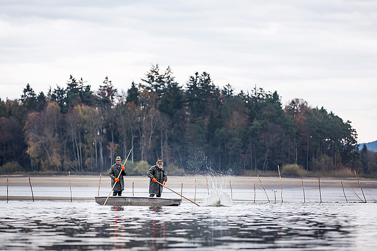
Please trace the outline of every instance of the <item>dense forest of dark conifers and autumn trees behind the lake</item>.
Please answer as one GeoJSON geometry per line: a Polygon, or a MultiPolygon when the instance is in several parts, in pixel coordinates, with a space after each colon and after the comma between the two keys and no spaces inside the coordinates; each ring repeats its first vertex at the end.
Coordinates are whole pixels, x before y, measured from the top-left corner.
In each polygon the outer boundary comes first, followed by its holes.
{"type": "Polygon", "coordinates": [[[256,86],[235,93],[206,72],[183,86],[170,67],[158,65],[126,93],[108,77],[92,90],[70,76],[46,94],[27,84],[20,99],[0,100],[2,172],[104,172],[132,149],[130,164],[161,157],[185,173],[244,174],[289,164],[374,173],[376,156],[357,147],[351,122],[323,107],[302,99],[283,106],[276,91],[256,86]]]}

